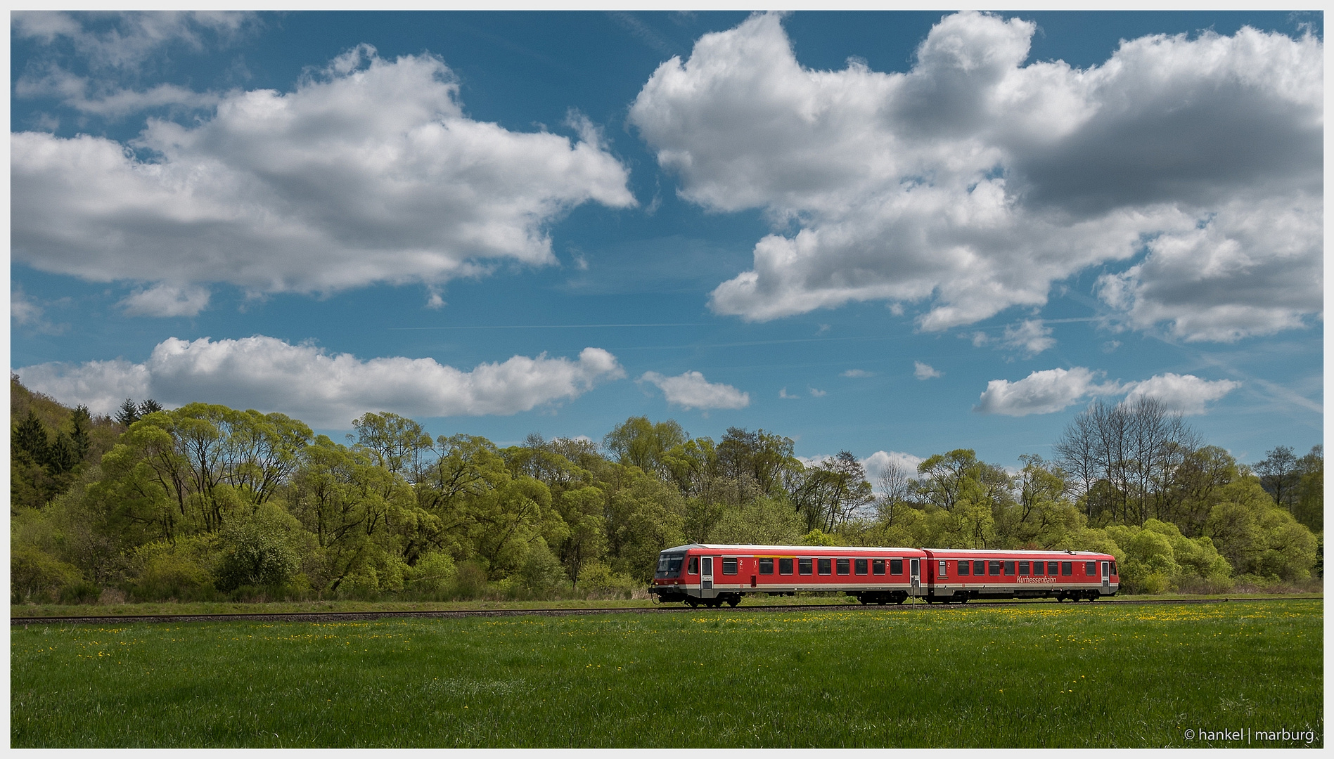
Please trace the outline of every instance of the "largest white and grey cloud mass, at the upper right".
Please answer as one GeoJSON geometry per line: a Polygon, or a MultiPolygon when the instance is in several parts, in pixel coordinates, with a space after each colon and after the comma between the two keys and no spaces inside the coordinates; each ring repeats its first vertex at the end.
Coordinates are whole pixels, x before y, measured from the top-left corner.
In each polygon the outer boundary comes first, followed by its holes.
{"type": "Polygon", "coordinates": [[[1145,240],[1147,257],[1099,285],[1134,328],[1229,339],[1319,309],[1317,37],[1157,35],[1078,69],[1025,65],[1035,24],[964,12],[911,71],[882,73],[802,67],[780,19],[704,35],[630,113],[684,199],[796,227],[755,244],[715,312],[888,300],[943,329],[1042,305],[1054,281],[1131,261],[1145,240]],[[1214,265],[1187,265],[1206,253],[1214,265]],[[1285,284],[1302,277],[1294,299],[1285,284]]]}

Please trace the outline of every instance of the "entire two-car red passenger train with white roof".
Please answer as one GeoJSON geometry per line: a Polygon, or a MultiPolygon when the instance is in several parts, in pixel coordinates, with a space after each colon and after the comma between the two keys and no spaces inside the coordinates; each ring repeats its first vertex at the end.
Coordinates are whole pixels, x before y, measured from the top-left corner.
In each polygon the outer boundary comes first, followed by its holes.
{"type": "Polygon", "coordinates": [[[648,592],[690,606],[746,594],[843,592],[862,603],[1089,599],[1117,595],[1117,558],[1089,551],[690,544],[658,555],[648,592]]]}

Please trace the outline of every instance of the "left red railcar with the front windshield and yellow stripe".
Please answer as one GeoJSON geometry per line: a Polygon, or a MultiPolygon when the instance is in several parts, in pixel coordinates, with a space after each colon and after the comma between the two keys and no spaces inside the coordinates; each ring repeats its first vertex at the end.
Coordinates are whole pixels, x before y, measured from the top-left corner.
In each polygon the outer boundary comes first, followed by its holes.
{"type": "Polygon", "coordinates": [[[694,543],[658,555],[648,592],[663,602],[736,606],[747,594],[831,591],[862,603],[924,596],[919,548],[718,546],[694,543]]]}

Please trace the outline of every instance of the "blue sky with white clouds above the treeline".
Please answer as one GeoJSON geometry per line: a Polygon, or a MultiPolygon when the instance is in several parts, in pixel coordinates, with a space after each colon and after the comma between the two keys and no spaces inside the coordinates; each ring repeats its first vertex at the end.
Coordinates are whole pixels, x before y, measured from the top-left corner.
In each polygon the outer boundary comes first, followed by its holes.
{"type": "Polygon", "coordinates": [[[1322,439],[1319,13],[20,15],[11,365],[868,464],[1322,439]],[[878,456],[878,458],[876,458],[878,456]]]}

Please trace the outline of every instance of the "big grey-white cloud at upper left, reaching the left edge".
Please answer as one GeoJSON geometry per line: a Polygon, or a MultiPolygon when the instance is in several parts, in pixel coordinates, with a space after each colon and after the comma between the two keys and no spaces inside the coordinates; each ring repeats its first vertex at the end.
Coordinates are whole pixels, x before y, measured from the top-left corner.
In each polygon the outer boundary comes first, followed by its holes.
{"type": "Polygon", "coordinates": [[[434,56],[362,45],[293,92],[231,92],[191,125],[149,120],[136,152],[13,133],[13,260],[253,292],[438,285],[555,263],[546,229],[562,213],[635,204],[586,120],[578,140],[511,132],[468,119],[458,91],[434,56]]]}

